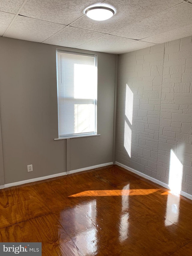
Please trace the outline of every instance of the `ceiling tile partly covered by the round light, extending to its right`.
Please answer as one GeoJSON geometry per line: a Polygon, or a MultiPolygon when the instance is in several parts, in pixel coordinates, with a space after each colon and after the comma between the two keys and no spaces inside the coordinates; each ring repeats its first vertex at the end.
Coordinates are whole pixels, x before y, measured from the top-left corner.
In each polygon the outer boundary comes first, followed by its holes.
{"type": "Polygon", "coordinates": [[[112,5],[117,10],[112,18],[104,21],[95,21],[84,15],[72,23],[71,26],[101,33],[110,33],[181,2],[182,0],[109,0],[105,1],[104,4],[112,5]]]}

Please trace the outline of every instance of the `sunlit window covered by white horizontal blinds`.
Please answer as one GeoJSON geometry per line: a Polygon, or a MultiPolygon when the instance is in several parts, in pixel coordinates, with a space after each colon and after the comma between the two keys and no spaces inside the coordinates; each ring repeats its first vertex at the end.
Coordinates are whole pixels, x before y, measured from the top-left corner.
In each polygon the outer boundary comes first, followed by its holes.
{"type": "Polygon", "coordinates": [[[57,50],[58,135],[97,134],[96,55],[57,50]]]}

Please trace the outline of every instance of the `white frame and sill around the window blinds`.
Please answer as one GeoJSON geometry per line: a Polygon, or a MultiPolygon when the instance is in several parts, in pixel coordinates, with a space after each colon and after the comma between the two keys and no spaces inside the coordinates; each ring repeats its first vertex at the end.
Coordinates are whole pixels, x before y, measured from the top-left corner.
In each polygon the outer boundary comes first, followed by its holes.
{"type": "MultiPolygon", "coordinates": [[[[58,138],[55,138],[54,140],[62,140],[62,139],[70,139],[70,138],[79,138],[79,137],[91,137],[91,136],[99,136],[101,134],[98,134],[97,131],[97,104],[98,100],[95,99],[95,131],[94,132],[88,132],[88,133],[80,133],[80,134],[70,134],[70,135],[59,135],[59,95],[58,95],[58,59],[57,59],[57,53],[58,52],[64,52],[74,55],[83,55],[83,56],[94,56],[95,57],[95,67],[97,68],[97,78],[98,78],[98,56],[95,53],[85,53],[85,52],[75,52],[75,51],[69,51],[69,50],[62,50],[62,49],[56,49],[56,76],[57,76],[57,113],[58,113],[58,138]]],[[[98,80],[97,80],[97,95],[98,95],[98,80]]],[[[78,98],[74,98],[74,101],[78,101],[78,98]]],[[[80,99],[81,100],[81,99],[80,99]]],[[[83,99],[82,99],[83,100],[83,99]]]]}

